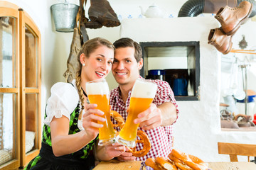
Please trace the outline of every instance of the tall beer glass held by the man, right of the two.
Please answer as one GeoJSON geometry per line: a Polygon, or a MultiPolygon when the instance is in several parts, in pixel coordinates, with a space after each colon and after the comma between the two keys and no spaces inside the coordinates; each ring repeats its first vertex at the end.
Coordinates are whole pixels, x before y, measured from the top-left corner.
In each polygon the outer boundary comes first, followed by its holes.
{"type": "Polygon", "coordinates": [[[127,120],[124,128],[122,128],[117,136],[117,142],[127,147],[135,147],[139,123],[135,124],[134,119],[138,117],[139,113],[149,108],[156,95],[156,89],[157,85],[151,81],[144,79],[137,79],[135,81],[132,88],[127,120]]]}

